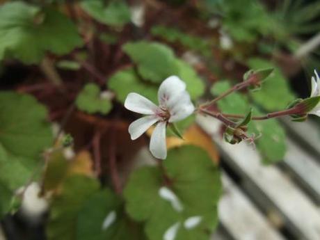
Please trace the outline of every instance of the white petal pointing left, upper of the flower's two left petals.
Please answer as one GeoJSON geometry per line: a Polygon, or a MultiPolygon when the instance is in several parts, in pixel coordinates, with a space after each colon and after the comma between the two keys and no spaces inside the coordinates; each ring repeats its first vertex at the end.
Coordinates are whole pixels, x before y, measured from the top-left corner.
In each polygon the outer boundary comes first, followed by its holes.
{"type": "Polygon", "coordinates": [[[141,114],[154,114],[158,106],[138,93],[129,93],[125,99],[125,108],[141,114]]]}

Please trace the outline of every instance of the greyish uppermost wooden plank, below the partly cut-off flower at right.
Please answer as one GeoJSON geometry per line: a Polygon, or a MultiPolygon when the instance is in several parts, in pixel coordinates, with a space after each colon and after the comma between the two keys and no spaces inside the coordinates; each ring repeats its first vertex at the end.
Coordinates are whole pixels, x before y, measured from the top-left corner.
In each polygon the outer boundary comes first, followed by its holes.
{"type": "Polygon", "coordinates": [[[287,128],[291,136],[296,138],[299,145],[303,145],[307,150],[318,157],[320,161],[320,127],[316,122],[307,119],[305,122],[292,122],[290,118],[281,118],[282,123],[287,128]]]}

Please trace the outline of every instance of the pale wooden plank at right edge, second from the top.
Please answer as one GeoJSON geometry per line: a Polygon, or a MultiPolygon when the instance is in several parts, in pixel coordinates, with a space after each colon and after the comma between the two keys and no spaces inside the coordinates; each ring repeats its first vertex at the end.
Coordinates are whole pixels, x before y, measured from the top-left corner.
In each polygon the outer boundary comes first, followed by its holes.
{"type": "Polygon", "coordinates": [[[284,163],[314,201],[320,205],[320,164],[298,144],[287,139],[284,163]]]}

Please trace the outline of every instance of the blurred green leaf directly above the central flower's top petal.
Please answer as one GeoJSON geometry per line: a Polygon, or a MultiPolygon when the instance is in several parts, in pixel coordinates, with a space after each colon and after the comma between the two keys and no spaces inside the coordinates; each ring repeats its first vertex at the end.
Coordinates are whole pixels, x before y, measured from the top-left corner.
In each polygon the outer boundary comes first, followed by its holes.
{"type": "Polygon", "coordinates": [[[122,49],[136,63],[143,79],[161,83],[167,77],[179,73],[175,54],[166,45],[139,41],[128,42],[122,49]]]}

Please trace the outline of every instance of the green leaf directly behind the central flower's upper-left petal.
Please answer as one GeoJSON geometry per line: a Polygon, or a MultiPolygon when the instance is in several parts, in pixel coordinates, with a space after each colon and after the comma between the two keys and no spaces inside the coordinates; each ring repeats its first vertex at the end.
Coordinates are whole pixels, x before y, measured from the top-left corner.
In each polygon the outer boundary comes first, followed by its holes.
{"type": "Polygon", "coordinates": [[[141,81],[136,75],[134,68],[121,70],[113,74],[107,82],[108,88],[115,92],[119,102],[125,103],[129,93],[138,93],[147,97],[152,102],[158,102],[158,86],[141,81]]]}

